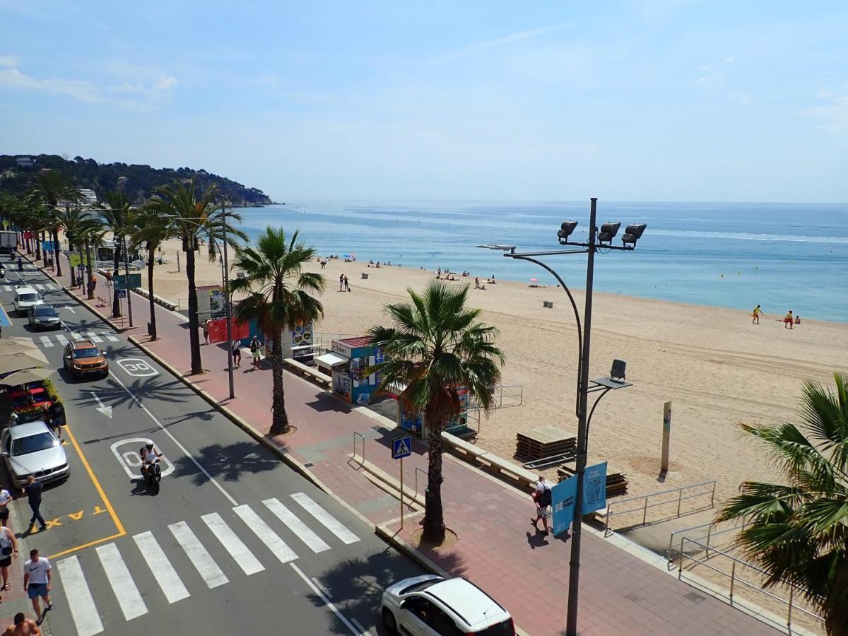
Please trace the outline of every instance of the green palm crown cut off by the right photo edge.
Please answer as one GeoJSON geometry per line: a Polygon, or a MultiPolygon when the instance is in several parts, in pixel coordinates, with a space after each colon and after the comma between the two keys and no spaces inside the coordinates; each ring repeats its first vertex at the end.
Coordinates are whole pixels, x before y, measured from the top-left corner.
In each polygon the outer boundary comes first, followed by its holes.
{"type": "Polygon", "coordinates": [[[784,472],[784,484],[745,482],[717,521],[747,518],[743,553],[768,572],[766,585],[788,581],[823,612],[829,634],[848,634],[848,375],[834,373],[835,393],[804,383],[801,424],[743,424],[784,472]]]}

